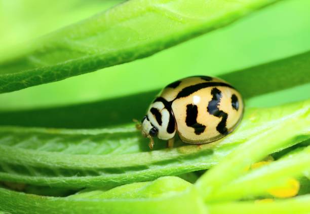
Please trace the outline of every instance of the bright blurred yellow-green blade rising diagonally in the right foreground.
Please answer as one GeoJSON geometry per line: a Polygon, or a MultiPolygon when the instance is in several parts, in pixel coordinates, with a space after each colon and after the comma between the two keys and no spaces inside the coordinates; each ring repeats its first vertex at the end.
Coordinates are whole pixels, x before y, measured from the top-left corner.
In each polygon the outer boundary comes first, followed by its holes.
{"type": "MultiPolygon", "coordinates": [[[[300,109],[301,110],[301,109],[300,109]]],[[[303,116],[283,117],[269,129],[253,135],[245,144],[231,152],[219,165],[208,170],[197,181],[196,186],[206,201],[212,201],[212,195],[223,185],[237,179],[245,173],[250,164],[262,160],[269,154],[292,146],[291,142],[303,141],[310,136],[309,108],[303,116]],[[295,122],[294,122],[295,121],[295,122]],[[221,176],[225,172],[226,176],[221,176]]]]}

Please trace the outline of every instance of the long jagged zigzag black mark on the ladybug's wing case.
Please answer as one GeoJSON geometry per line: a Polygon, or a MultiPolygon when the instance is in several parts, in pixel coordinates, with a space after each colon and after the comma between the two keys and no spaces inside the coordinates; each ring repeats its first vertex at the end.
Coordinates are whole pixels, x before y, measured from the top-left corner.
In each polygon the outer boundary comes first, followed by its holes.
{"type": "Polygon", "coordinates": [[[217,124],[216,130],[221,134],[227,134],[226,121],[228,114],[218,109],[218,104],[221,101],[222,93],[217,88],[211,90],[212,100],[208,103],[207,111],[215,117],[222,118],[217,124]]]}

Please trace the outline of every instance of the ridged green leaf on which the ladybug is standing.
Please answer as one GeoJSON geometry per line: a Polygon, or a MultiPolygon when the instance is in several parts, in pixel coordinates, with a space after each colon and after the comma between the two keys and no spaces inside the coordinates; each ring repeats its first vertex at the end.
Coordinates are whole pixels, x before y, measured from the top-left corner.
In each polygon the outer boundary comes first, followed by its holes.
{"type": "MultiPolygon", "coordinates": [[[[276,108],[247,109],[240,127],[221,140],[199,147],[177,141],[179,147],[174,149],[163,149],[165,143],[157,141],[156,151],[149,151],[147,139],[133,127],[99,130],[1,127],[0,180],[71,188],[113,187],[207,169],[246,141],[265,140],[264,144],[273,141],[274,146],[267,146],[258,153],[261,155],[307,139],[309,121],[304,118],[308,117],[309,105],[309,101],[304,101],[276,108]]],[[[234,168],[231,164],[229,167],[234,168]]]]}

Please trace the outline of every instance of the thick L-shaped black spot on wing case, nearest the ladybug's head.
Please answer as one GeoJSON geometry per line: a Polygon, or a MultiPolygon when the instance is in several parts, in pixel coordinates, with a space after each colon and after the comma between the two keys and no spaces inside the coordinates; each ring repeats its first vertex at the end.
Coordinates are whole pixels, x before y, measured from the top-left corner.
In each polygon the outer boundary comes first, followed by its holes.
{"type": "Polygon", "coordinates": [[[187,126],[195,129],[195,134],[201,134],[205,131],[206,126],[197,122],[198,109],[197,105],[188,104],[186,105],[186,119],[185,123],[187,126]]]}

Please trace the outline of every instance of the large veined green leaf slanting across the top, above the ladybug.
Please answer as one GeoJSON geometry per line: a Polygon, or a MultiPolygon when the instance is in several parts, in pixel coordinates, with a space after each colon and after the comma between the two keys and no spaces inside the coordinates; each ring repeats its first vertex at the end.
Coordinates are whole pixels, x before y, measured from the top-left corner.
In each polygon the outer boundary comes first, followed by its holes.
{"type": "Polygon", "coordinates": [[[3,62],[0,92],[143,58],[274,2],[128,1],[34,41],[28,54],[3,62]]]}

